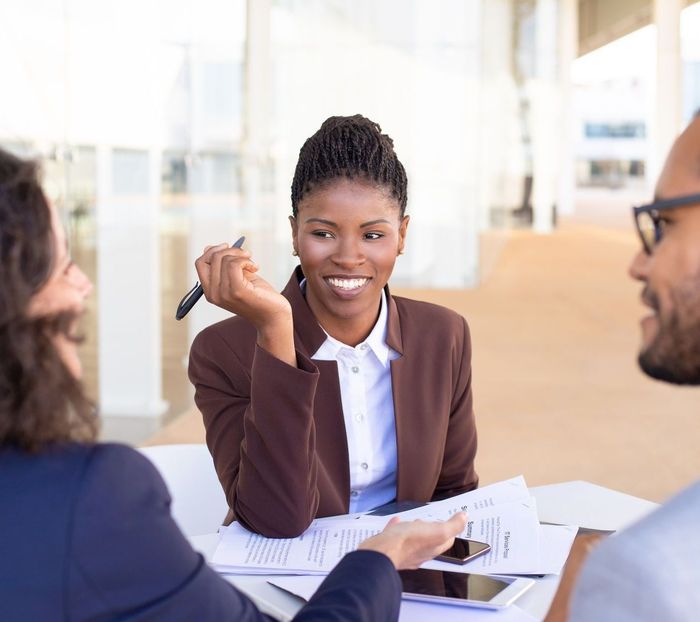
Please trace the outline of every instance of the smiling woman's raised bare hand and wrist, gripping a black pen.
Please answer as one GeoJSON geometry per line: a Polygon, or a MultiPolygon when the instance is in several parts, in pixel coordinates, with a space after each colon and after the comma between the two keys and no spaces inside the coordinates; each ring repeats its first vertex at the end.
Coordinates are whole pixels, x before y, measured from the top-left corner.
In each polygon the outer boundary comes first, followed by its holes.
{"type": "Polygon", "coordinates": [[[244,317],[257,329],[259,346],[296,366],[292,308],[258,276],[249,251],[228,244],[207,246],[194,265],[209,302],[244,317]]]}

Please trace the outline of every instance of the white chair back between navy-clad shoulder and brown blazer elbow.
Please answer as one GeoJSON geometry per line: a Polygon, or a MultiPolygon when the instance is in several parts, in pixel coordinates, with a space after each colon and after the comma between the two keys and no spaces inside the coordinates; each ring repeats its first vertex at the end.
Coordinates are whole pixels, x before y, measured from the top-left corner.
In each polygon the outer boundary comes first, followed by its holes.
{"type": "Polygon", "coordinates": [[[206,445],[156,445],[139,451],[158,469],[172,497],[171,512],[187,537],[215,533],[228,512],[206,445]]]}

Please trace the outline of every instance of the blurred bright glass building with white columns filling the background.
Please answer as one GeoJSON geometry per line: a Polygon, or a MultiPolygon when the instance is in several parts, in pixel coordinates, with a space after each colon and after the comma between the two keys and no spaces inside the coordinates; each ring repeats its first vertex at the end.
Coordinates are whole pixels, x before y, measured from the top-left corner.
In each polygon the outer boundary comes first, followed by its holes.
{"type": "Polygon", "coordinates": [[[245,235],[283,286],[297,154],[326,117],[378,121],[407,167],[393,285],[478,296],[518,236],[627,227],[700,107],[698,32],[685,0],[5,0],[0,145],[44,159],[96,285],[105,438],[192,411],[189,344],[226,316],[174,320],[205,245],[245,235]]]}

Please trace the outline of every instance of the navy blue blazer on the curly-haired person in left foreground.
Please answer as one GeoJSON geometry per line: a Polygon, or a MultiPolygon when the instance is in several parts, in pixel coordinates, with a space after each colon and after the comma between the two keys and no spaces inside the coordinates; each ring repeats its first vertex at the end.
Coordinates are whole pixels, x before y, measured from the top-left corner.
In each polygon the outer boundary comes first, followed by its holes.
{"type": "MultiPolygon", "coordinates": [[[[295,620],[398,618],[387,557],[346,556],[295,620]]],[[[146,458],[121,445],[0,448],[0,620],[269,620],[195,553],[146,458]]]]}

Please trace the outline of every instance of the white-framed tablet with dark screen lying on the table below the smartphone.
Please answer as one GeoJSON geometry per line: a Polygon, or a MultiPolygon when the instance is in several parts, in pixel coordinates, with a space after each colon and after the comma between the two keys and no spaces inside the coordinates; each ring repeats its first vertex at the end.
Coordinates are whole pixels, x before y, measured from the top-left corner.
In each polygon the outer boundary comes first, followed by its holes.
{"type": "Polygon", "coordinates": [[[485,576],[442,570],[399,571],[403,598],[463,607],[500,609],[530,589],[532,579],[485,576]]]}

